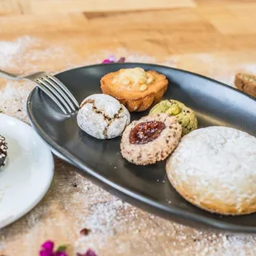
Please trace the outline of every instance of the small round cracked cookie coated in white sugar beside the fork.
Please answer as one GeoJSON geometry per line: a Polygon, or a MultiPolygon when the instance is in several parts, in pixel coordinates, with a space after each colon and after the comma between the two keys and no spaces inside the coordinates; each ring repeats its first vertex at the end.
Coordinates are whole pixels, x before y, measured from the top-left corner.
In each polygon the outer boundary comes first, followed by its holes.
{"type": "Polygon", "coordinates": [[[78,126],[97,139],[111,139],[122,134],[130,124],[130,113],[114,97],[93,94],[83,100],[77,116],[78,126]]]}

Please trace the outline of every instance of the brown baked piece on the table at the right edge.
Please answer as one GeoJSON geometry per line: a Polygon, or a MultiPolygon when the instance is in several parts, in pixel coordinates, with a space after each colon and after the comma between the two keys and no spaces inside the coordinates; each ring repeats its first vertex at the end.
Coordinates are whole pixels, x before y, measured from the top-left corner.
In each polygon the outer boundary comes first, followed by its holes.
{"type": "Polygon", "coordinates": [[[236,73],[235,86],[242,92],[256,97],[256,76],[249,73],[236,73]]]}

